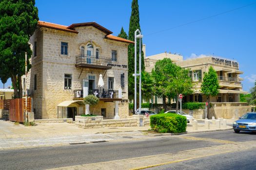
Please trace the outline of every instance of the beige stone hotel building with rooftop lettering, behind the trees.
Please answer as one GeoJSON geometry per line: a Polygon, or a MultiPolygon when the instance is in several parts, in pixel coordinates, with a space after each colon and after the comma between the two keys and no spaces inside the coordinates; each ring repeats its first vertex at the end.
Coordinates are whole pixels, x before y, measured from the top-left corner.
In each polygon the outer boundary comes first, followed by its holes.
{"type": "MultiPolygon", "coordinates": [[[[190,69],[190,76],[194,83],[194,93],[185,96],[182,99],[184,102],[206,102],[206,97],[200,93],[200,87],[203,75],[208,71],[210,66],[217,71],[220,85],[219,94],[216,97],[211,97],[211,102],[239,102],[240,94],[247,93],[242,90],[241,81],[243,79],[239,75],[243,72],[239,70],[239,65],[236,61],[213,56],[183,60],[180,54],[163,52],[145,57],[145,70],[151,72],[156,62],[163,58],[170,58],[178,66],[190,69]]],[[[161,97],[154,97],[154,99],[154,102],[162,103],[161,97]]]]}

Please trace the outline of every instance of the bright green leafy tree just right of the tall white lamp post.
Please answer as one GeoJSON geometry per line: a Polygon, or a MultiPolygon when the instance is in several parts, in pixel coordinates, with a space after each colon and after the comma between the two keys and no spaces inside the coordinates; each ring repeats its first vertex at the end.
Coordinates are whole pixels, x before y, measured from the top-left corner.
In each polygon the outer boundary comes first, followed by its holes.
{"type": "Polygon", "coordinates": [[[163,98],[163,107],[166,110],[166,97],[173,98],[176,93],[170,91],[172,79],[176,74],[177,65],[172,63],[170,58],[164,58],[156,62],[155,68],[152,69],[152,77],[154,78],[154,92],[163,98]]]}

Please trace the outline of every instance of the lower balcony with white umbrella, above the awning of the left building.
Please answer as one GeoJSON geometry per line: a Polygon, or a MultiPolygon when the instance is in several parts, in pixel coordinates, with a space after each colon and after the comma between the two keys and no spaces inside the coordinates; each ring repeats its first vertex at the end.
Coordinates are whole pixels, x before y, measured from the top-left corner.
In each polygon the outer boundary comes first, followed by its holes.
{"type": "MultiPolygon", "coordinates": [[[[88,95],[95,95],[98,97],[99,101],[121,101],[122,99],[118,98],[118,90],[107,90],[100,91],[98,89],[89,89],[88,95]]],[[[74,100],[82,100],[83,90],[74,90],[74,100]]]]}

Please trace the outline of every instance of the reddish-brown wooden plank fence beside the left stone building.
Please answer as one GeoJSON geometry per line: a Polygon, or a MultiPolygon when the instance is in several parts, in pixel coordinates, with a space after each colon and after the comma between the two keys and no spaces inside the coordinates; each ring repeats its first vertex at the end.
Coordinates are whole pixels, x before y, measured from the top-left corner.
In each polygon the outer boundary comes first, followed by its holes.
{"type": "MultiPolygon", "coordinates": [[[[0,100],[0,109],[9,110],[9,119],[11,121],[25,121],[25,110],[26,110],[25,99],[10,99],[0,100]]],[[[32,111],[32,99],[28,98],[27,112],[32,111]]]]}

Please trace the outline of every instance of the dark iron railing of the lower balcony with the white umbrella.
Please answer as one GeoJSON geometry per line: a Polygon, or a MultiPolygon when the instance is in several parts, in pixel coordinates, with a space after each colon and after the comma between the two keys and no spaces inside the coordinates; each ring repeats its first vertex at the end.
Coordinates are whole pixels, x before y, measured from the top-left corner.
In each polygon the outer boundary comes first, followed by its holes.
{"type": "MultiPolygon", "coordinates": [[[[88,95],[95,95],[98,98],[118,99],[118,90],[89,89],[88,95]]],[[[75,98],[83,98],[83,90],[74,90],[75,98]]]]}

